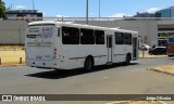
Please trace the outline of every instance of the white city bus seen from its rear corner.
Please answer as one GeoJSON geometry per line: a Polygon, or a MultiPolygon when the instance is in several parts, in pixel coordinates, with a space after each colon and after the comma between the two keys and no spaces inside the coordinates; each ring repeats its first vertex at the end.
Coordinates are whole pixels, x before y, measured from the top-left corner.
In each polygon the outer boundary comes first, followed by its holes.
{"type": "Polygon", "coordinates": [[[138,32],[60,22],[29,23],[26,65],[38,68],[90,70],[96,65],[139,58],[138,32]]]}

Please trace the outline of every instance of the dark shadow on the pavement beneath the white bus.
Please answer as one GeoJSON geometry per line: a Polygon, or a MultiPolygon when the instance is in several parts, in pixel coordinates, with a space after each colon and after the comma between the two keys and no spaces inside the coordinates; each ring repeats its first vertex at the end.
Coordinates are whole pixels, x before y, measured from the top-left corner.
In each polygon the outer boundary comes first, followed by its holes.
{"type": "Polygon", "coordinates": [[[107,66],[107,65],[96,66],[94,68],[94,70],[91,70],[91,72],[84,72],[83,68],[70,69],[70,70],[58,69],[58,70],[48,70],[48,72],[41,72],[41,73],[36,73],[36,74],[29,74],[29,75],[25,75],[25,76],[36,77],[36,78],[46,78],[46,79],[62,79],[62,78],[66,78],[66,77],[78,76],[78,75],[83,75],[83,74],[96,73],[96,72],[112,69],[112,68],[116,68],[116,67],[132,66],[132,65],[137,65],[137,63],[130,63],[129,65],[113,64],[110,66],[107,66]]]}

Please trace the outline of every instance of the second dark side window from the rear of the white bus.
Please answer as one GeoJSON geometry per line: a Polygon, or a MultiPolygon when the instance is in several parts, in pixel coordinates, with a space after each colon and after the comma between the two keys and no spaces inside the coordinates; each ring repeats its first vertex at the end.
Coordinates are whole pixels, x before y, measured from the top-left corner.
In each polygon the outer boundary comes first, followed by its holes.
{"type": "Polygon", "coordinates": [[[94,29],[80,29],[80,43],[82,44],[95,44],[94,29]]]}

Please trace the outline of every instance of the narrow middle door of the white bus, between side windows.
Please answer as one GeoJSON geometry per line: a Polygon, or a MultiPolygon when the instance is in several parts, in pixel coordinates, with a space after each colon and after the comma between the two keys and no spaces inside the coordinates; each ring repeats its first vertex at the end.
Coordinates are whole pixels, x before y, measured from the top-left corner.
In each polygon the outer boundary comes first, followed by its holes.
{"type": "Polygon", "coordinates": [[[107,36],[108,64],[112,64],[112,35],[107,36]]]}

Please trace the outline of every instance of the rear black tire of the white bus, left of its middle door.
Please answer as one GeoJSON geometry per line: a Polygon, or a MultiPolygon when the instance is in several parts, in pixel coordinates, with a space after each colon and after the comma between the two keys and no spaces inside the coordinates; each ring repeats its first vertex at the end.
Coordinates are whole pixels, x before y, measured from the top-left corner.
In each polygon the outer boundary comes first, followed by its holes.
{"type": "Polygon", "coordinates": [[[84,63],[84,68],[85,72],[89,72],[94,69],[94,57],[92,56],[87,56],[84,63]]]}

